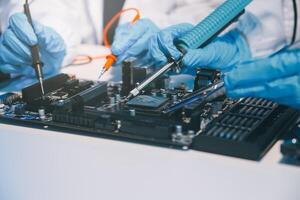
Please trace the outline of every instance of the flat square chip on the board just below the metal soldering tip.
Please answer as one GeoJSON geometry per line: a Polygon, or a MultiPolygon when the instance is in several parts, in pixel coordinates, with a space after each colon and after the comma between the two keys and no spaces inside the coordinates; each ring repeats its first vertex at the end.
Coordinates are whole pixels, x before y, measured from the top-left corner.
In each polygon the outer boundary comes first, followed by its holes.
{"type": "Polygon", "coordinates": [[[159,108],[167,101],[168,99],[164,97],[140,95],[130,100],[127,105],[145,108],[159,108]]]}

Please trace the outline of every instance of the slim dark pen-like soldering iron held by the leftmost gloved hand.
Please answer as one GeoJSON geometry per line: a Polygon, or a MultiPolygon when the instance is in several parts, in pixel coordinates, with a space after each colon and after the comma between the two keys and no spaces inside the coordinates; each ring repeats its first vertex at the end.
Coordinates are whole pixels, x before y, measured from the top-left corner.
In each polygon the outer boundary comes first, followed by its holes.
{"type": "MultiPolygon", "coordinates": [[[[24,13],[27,17],[27,20],[28,20],[29,24],[34,29],[31,14],[30,14],[28,0],[26,0],[25,4],[24,4],[24,13]]],[[[40,59],[39,46],[37,44],[34,45],[34,46],[31,46],[31,56],[32,56],[32,67],[35,70],[36,78],[39,81],[39,84],[40,84],[40,87],[41,87],[41,92],[42,92],[42,95],[44,96],[45,95],[45,90],[44,90],[44,83],[43,83],[43,69],[42,69],[43,63],[40,59]]]]}

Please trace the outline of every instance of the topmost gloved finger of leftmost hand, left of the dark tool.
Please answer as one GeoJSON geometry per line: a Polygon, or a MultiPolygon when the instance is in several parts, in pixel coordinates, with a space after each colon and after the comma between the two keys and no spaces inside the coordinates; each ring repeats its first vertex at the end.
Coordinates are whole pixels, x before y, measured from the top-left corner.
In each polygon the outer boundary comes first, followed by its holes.
{"type": "Polygon", "coordinates": [[[33,46],[38,43],[35,32],[23,13],[12,15],[9,19],[9,27],[24,44],[33,46]]]}

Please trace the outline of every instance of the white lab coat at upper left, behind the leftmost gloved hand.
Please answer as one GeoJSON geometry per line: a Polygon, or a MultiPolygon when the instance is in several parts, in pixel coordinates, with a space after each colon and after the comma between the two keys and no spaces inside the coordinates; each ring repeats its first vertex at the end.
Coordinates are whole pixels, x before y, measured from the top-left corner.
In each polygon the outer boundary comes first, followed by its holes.
{"type": "MultiPolygon", "coordinates": [[[[30,4],[32,18],[43,25],[53,28],[65,41],[67,57],[64,64],[68,64],[75,54],[73,47],[83,40],[86,21],[83,21],[81,12],[85,10],[82,0],[34,0],[30,4]]],[[[9,17],[16,12],[23,12],[23,1],[10,0],[3,6],[1,20],[5,30],[9,17]]]]}

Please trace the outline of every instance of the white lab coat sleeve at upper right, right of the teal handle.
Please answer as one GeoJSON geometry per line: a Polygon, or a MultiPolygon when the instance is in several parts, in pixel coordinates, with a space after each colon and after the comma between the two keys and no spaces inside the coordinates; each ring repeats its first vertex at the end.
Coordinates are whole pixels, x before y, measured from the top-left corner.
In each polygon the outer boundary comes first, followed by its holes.
{"type": "Polygon", "coordinates": [[[237,28],[246,36],[252,57],[266,57],[290,44],[286,12],[293,12],[284,0],[254,0],[237,28]]]}

